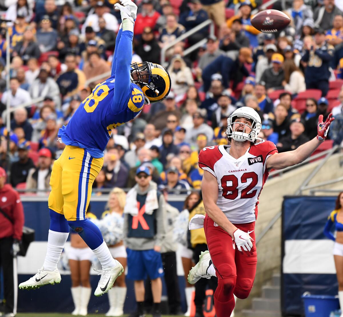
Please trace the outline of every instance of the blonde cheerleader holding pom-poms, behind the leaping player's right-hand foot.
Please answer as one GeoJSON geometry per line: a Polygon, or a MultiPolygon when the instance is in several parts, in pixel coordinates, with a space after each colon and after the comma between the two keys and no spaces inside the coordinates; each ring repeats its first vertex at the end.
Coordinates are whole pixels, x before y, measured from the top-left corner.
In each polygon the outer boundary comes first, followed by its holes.
{"type": "MultiPolygon", "coordinates": [[[[103,233],[105,242],[113,256],[123,266],[126,267],[126,249],[123,244],[123,211],[125,206],[125,192],[118,187],[111,190],[106,211],[102,215],[102,225],[100,230],[103,233]]],[[[117,277],[113,287],[108,291],[110,309],[105,316],[123,315],[123,307],[126,297],[125,274],[117,277]]]]}

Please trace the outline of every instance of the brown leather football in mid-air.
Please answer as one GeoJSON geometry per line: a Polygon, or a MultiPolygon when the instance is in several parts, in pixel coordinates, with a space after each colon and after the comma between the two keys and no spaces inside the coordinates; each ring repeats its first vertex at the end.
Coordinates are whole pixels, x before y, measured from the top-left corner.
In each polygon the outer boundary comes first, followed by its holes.
{"type": "Polygon", "coordinates": [[[284,29],[291,20],[279,10],[263,10],[251,19],[251,25],[264,33],[274,33],[284,29]]]}

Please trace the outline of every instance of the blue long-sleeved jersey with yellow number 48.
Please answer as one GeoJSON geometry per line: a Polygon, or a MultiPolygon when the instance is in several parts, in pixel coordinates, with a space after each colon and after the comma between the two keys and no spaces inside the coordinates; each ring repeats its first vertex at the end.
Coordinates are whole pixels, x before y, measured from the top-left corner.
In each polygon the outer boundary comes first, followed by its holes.
{"type": "Polygon", "coordinates": [[[82,147],[95,158],[104,156],[111,130],[135,118],[144,106],[142,89],[130,79],[132,37],[131,31],[119,30],[111,77],[96,85],[58,132],[63,143],[82,147]]]}

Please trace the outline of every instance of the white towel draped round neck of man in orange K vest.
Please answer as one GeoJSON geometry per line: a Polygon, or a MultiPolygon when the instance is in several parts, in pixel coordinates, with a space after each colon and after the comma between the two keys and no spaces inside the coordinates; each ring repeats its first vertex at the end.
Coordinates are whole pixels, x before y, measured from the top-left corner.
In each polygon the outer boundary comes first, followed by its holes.
{"type": "MultiPolygon", "coordinates": [[[[145,214],[151,215],[155,209],[158,208],[157,190],[150,189],[145,199],[145,214]]],[[[138,215],[137,207],[137,190],[135,187],[131,188],[126,195],[126,205],[124,213],[131,216],[138,215]]]]}

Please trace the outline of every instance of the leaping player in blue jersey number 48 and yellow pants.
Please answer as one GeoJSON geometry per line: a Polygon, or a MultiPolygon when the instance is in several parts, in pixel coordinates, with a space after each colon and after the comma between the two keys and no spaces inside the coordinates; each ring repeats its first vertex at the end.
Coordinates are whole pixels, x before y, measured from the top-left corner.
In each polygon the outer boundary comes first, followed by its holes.
{"type": "Polygon", "coordinates": [[[111,130],[128,122],[145,104],[163,100],[170,91],[170,77],[161,65],[132,64],[132,38],[137,6],[120,0],[122,23],[116,39],[111,77],[98,84],[75,111],[67,127],[58,133],[66,144],[52,167],[48,199],[50,228],[48,249],[43,267],[19,288],[34,289],[60,283],[57,263],[69,235],[69,227],[78,232],[102,265],[100,281],[94,295],[106,293],[123,272],[112,258],[98,227],[85,214],[92,184],[104,162],[104,150],[111,130]]]}

